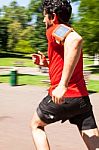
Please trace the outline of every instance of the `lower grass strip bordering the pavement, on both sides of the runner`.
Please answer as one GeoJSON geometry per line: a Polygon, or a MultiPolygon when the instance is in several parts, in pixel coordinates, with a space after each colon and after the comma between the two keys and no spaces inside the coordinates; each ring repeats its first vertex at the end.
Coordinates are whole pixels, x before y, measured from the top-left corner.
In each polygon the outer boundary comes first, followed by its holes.
{"type": "MultiPolygon", "coordinates": [[[[40,75],[22,75],[19,74],[17,77],[18,85],[37,85],[37,86],[48,86],[48,83],[42,82],[42,80],[48,80],[48,76],[40,75]]],[[[0,83],[11,84],[10,75],[0,75],[0,83]]],[[[90,80],[87,86],[88,91],[99,92],[99,81],[90,80]]]]}

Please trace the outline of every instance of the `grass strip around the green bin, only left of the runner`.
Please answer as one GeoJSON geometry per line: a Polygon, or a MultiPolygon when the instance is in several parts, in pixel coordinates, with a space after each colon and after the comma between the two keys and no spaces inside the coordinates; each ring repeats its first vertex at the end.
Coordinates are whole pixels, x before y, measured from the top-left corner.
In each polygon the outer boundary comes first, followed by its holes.
{"type": "MultiPolygon", "coordinates": [[[[26,85],[48,86],[48,84],[42,82],[42,80],[48,80],[48,77],[40,75],[22,75],[22,74],[18,74],[17,76],[18,85],[26,84],[26,85]]],[[[0,82],[11,84],[10,75],[0,75],[0,82]]]]}

